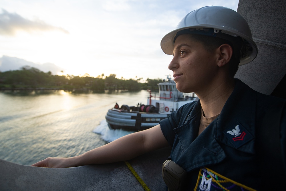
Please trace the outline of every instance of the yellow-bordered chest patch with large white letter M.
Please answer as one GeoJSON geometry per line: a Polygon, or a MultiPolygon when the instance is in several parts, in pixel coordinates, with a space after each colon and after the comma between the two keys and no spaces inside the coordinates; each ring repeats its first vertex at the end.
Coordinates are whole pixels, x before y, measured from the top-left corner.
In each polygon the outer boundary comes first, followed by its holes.
{"type": "Polygon", "coordinates": [[[226,178],[208,168],[200,169],[198,180],[194,191],[243,191],[250,190],[255,191],[243,184],[235,182],[229,178],[226,178]]]}

